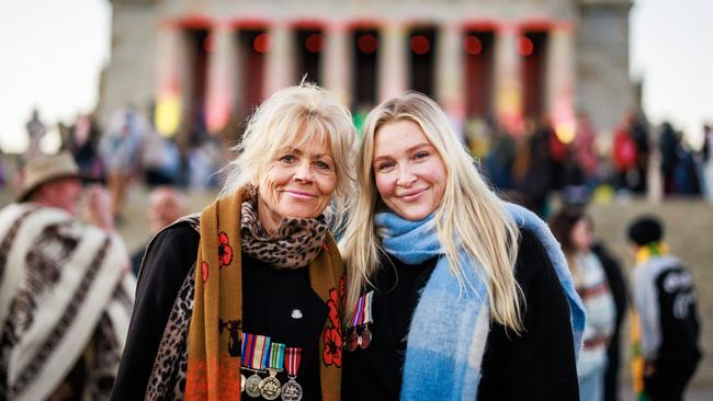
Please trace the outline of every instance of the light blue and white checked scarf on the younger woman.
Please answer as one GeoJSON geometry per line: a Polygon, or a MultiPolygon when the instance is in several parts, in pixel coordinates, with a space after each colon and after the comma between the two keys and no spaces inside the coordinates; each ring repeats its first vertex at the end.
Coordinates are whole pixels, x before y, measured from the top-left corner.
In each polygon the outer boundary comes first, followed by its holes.
{"type": "MultiPolygon", "coordinates": [[[[533,232],[544,245],[567,296],[575,353],[578,353],[585,309],[559,243],[533,213],[513,204],[506,204],[506,208],[521,229],[533,232]]],[[[475,400],[490,326],[487,289],[476,273],[480,270],[463,270],[471,286],[460,291],[438,241],[433,215],[410,221],[393,213],[378,213],[374,222],[386,252],[403,263],[420,264],[441,256],[414,311],[401,400],[475,400]]],[[[463,251],[459,252],[459,259],[463,265],[479,265],[463,251]]]]}

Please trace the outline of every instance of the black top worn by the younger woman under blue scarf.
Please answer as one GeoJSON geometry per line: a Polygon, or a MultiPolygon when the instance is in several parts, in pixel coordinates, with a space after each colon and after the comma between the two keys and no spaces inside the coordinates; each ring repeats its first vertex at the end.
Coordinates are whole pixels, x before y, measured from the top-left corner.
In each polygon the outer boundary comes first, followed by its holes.
{"type": "MultiPolygon", "coordinates": [[[[479,400],[578,400],[569,307],[540,241],[521,233],[516,279],[524,291],[525,333],[506,333],[494,323],[488,334],[478,387],[479,400]]],[[[344,352],[343,400],[397,400],[407,330],[435,259],[405,265],[394,257],[374,279],[373,339],[366,350],[344,352]]]]}

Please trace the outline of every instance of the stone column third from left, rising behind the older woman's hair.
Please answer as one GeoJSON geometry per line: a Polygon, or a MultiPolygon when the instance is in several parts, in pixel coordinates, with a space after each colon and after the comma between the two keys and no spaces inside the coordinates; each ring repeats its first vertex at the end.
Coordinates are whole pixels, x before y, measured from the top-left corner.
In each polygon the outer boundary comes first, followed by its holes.
{"type": "Polygon", "coordinates": [[[263,99],[295,84],[295,41],[292,27],[284,22],[275,22],[269,32],[272,44],[268,51],[263,99]]]}

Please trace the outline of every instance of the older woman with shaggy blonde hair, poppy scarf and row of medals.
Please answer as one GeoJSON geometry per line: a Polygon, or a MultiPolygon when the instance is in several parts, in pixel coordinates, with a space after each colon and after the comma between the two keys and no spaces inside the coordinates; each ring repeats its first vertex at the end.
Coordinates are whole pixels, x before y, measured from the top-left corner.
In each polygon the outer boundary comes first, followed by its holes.
{"type": "Polygon", "coordinates": [[[339,399],[353,137],[313,85],[258,108],[218,199],[148,247],[113,399],[339,399]]]}

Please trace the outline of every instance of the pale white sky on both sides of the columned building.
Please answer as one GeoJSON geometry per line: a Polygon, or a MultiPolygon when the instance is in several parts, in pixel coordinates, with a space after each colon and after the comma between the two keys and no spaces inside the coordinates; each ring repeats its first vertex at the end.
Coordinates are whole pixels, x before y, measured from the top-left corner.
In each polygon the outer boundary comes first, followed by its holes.
{"type": "MultiPolygon", "coordinates": [[[[713,123],[713,0],[637,0],[631,21],[631,75],[644,79],[644,110],[670,119],[699,144],[713,123]]],[[[45,125],[91,111],[109,62],[107,0],[0,1],[0,145],[24,149],[37,106],[45,125]]],[[[56,136],[44,144],[56,145],[56,136]]]]}

